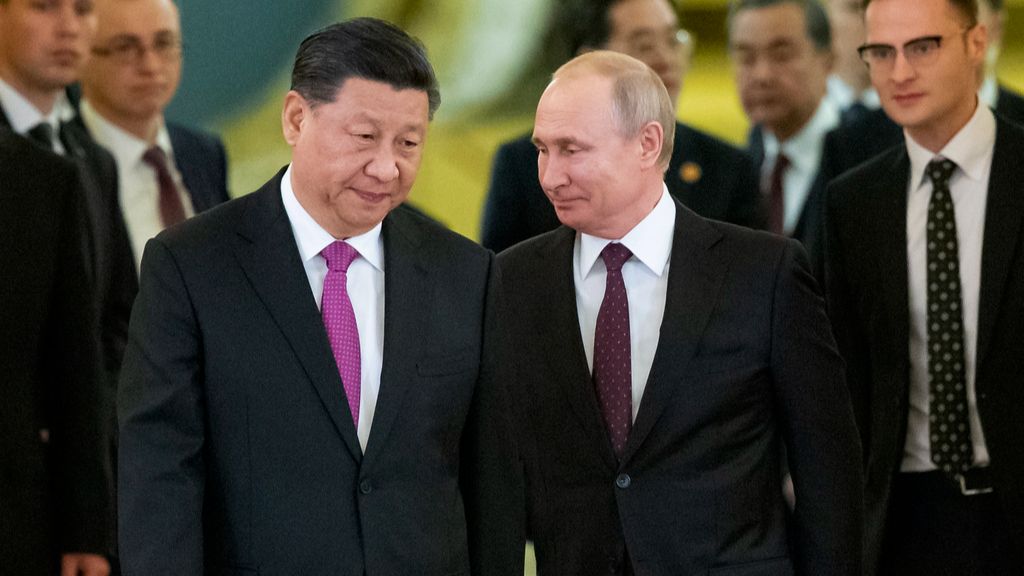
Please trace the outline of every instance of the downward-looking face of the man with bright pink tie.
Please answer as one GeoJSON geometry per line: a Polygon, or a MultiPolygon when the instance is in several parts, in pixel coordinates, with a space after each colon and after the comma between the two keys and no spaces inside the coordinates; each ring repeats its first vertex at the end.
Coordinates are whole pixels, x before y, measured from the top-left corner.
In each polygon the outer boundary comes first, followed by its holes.
{"type": "Polygon", "coordinates": [[[364,234],[401,204],[416,180],[428,125],[423,90],[349,78],[334,101],[285,97],[285,139],[299,203],[335,238],[364,234]]]}

